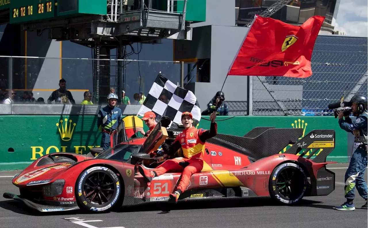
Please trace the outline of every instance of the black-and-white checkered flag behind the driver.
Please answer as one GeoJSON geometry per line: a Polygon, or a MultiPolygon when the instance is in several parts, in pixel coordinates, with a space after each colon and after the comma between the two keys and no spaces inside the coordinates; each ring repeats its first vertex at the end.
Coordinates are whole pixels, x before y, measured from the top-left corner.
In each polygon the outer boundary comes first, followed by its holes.
{"type": "Polygon", "coordinates": [[[171,120],[169,127],[173,122],[181,125],[183,112],[192,113],[193,126],[201,120],[201,108],[193,92],[175,85],[160,74],[153,82],[138,115],[144,116],[144,113],[148,111],[154,112],[158,120],[162,116],[169,117],[171,120]]]}

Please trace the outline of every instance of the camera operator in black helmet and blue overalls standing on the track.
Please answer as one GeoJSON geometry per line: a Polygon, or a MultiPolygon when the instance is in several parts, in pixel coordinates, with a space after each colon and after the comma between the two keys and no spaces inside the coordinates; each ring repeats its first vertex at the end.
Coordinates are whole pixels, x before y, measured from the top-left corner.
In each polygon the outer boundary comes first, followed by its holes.
{"type": "Polygon", "coordinates": [[[355,95],[351,98],[352,112],[356,116],[354,122],[351,121],[349,115],[345,116],[342,110],[337,111],[340,127],[352,134],[354,134],[353,154],[349,167],[345,173],[345,198],[346,202],[341,206],[334,207],[336,210],[353,211],[355,206],[353,200],[355,198],[354,188],[356,187],[358,193],[366,202],[361,207],[368,209],[368,186],[364,180],[365,169],[368,165],[368,98],[364,95],[355,95]]]}

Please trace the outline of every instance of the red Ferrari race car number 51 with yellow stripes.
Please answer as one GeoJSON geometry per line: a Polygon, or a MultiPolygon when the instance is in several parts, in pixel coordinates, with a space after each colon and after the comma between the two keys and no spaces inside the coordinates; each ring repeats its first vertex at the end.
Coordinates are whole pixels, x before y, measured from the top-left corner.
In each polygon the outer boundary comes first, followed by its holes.
{"type": "MultiPolygon", "coordinates": [[[[164,126],[159,122],[148,138],[139,138],[130,137],[134,130],[123,124],[118,131],[122,142],[109,150],[93,148],[87,155],[59,152],[40,157],[12,179],[20,194],[3,196],[39,211],[82,208],[102,212],[168,201],[181,173],[166,173],[147,183],[137,170],[139,164],[153,169],[171,158],[160,145],[170,144],[181,128],[164,126]]],[[[271,197],[281,204],[296,204],[304,196],[330,194],[335,189],[335,173],[326,164],[336,162],[326,162],[326,157],[335,148],[335,131],[313,130],[302,135],[300,128],[273,127],[256,127],[243,137],[217,134],[206,142],[204,167],[192,175],[179,201],[271,197]]],[[[181,151],[173,157],[181,157],[181,151]]]]}

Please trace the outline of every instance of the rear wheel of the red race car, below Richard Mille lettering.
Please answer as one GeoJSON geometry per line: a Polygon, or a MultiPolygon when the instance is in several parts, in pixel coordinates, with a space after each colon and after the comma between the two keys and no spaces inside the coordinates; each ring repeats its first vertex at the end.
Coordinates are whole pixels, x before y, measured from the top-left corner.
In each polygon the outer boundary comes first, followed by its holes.
{"type": "Polygon", "coordinates": [[[269,180],[270,195],[284,205],[297,204],[305,195],[308,179],[304,169],[293,162],[277,166],[269,180]]]}

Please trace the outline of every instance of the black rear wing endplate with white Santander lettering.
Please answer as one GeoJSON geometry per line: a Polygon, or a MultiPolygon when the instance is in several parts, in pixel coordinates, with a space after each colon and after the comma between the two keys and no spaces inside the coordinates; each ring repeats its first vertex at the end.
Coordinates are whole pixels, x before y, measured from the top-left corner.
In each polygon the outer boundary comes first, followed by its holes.
{"type": "Polygon", "coordinates": [[[304,150],[300,157],[307,155],[306,159],[310,159],[315,155],[316,157],[312,161],[322,163],[326,162],[327,156],[333,149],[335,149],[335,130],[312,130],[286,150],[284,154],[298,154],[304,150]]]}

